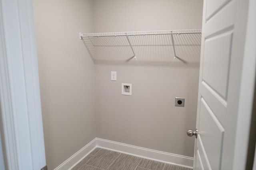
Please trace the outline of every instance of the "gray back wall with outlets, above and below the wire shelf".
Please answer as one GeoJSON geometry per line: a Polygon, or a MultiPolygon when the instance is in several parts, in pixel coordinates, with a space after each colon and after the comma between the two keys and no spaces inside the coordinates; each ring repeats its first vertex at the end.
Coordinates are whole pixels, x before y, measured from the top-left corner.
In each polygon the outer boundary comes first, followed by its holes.
{"type": "MultiPolygon", "coordinates": [[[[94,0],[93,5],[95,32],[202,27],[202,0],[94,0]]],[[[122,56],[96,61],[97,137],[193,156],[194,138],[186,131],[196,127],[199,56],[187,64],[166,63],[161,54],[151,62],[139,56],[128,63],[122,56]],[[117,71],[116,82],[110,71],[117,71]],[[121,95],[121,83],[132,83],[132,96],[121,95]],[[174,107],[175,97],[184,97],[185,107],[174,107]]]]}

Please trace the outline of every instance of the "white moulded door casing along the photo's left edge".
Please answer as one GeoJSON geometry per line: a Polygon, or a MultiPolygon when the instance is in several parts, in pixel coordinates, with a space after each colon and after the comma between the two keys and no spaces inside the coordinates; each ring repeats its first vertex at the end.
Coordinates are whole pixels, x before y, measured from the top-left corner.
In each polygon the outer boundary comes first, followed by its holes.
{"type": "Polygon", "coordinates": [[[0,0],[0,102],[6,169],[46,165],[32,0],[0,0]]]}

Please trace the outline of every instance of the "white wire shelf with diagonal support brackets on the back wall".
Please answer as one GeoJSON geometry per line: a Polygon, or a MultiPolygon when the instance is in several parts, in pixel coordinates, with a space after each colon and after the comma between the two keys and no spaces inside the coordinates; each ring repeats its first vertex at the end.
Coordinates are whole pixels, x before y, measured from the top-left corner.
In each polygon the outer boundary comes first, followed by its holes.
{"type": "Polygon", "coordinates": [[[92,59],[170,61],[200,58],[201,29],[80,33],[92,59]],[[131,57],[132,56],[132,57],[131,57]],[[172,56],[172,57],[171,57],[172,56]],[[170,58],[171,57],[171,58],[170,58]]]}

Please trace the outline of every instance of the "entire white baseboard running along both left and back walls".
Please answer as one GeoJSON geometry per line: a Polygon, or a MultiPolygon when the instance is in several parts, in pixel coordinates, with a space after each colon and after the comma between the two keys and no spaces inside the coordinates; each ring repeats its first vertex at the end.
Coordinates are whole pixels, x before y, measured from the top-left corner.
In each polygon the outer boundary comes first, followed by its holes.
{"type": "Polygon", "coordinates": [[[182,166],[185,168],[193,168],[192,166],[193,166],[194,158],[189,156],[182,156],[182,155],[162,152],[158,150],[136,147],[133,145],[128,145],[128,144],[119,143],[115,141],[109,141],[106,139],[95,138],[90,143],[88,143],[85,147],[80,149],[78,152],[76,152],[74,155],[72,155],[62,164],[60,164],[60,166],[58,166],[54,170],[72,169],[74,166],[76,166],[76,164],[78,164],[78,162],[84,159],[96,147],[113,150],[113,151],[121,152],[124,154],[129,154],[129,155],[137,156],[140,158],[155,160],[158,162],[164,162],[168,164],[182,166]]]}

